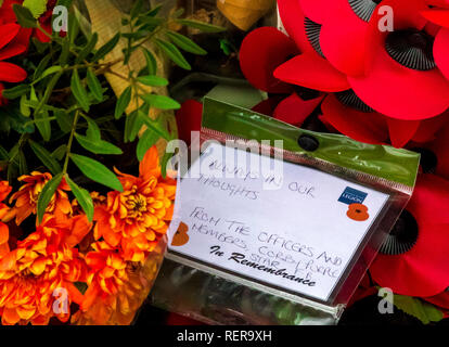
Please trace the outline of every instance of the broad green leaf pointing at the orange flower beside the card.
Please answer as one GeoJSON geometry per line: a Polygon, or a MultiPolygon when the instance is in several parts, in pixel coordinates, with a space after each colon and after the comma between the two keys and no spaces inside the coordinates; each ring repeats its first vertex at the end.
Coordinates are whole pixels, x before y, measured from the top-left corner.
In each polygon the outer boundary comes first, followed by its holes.
{"type": "Polygon", "coordinates": [[[70,154],[70,158],[87,178],[113,190],[124,191],[118,178],[103,164],[78,154],[70,154]]]}

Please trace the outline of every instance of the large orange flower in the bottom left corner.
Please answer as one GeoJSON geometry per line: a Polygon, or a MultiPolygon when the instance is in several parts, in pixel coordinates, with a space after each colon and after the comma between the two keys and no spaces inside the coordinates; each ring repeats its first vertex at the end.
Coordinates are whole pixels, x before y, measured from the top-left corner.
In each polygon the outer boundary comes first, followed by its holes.
{"type": "Polygon", "coordinates": [[[52,317],[65,322],[70,303],[82,295],[74,282],[86,280],[86,264],[74,248],[91,226],[84,216],[62,223],[46,215],[36,232],[0,261],[2,324],[47,324],[52,317]]]}

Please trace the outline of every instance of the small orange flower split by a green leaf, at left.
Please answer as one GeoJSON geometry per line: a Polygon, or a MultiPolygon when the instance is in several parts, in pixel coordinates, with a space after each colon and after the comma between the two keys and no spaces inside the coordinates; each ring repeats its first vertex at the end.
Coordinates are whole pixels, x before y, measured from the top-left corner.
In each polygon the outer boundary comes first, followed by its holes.
{"type": "MultiPolygon", "coordinates": [[[[36,215],[39,194],[47,182],[51,179],[52,176],[50,174],[41,174],[38,171],[33,171],[29,176],[25,175],[18,178],[18,181],[25,182],[25,184],[22,185],[18,192],[14,193],[10,198],[10,203],[14,200],[16,201],[14,213],[17,226],[31,214],[36,215]]],[[[66,218],[69,214],[72,214],[72,205],[67,193],[65,192],[69,190],[69,187],[65,180],[63,180],[46,211],[55,215],[57,218],[66,218]]]]}

